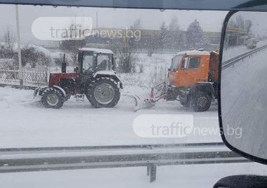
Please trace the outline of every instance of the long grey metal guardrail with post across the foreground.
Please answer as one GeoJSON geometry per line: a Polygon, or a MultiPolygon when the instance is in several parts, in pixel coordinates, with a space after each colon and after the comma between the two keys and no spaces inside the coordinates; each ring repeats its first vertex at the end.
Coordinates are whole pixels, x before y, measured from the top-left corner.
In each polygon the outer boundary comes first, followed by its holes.
{"type": "Polygon", "coordinates": [[[0,173],[144,166],[150,182],[157,166],[247,162],[223,143],[0,149],[0,173]]]}

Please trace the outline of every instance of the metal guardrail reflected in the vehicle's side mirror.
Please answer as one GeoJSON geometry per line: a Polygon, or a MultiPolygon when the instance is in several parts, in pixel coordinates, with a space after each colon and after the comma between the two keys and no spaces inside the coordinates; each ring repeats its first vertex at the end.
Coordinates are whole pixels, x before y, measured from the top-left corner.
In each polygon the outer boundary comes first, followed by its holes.
{"type": "Polygon", "coordinates": [[[241,55],[236,56],[235,58],[231,58],[230,60],[226,60],[225,62],[222,63],[221,69],[226,69],[228,67],[231,67],[235,65],[236,62],[240,62],[241,60],[244,60],[245,58],[251,57],[254,53],[257,53],[263,49],[267,48],[267,45],[261,46],[259,48],[255,48],[252,51],[248,51],[247,53],[242,53],[241,55]]]}

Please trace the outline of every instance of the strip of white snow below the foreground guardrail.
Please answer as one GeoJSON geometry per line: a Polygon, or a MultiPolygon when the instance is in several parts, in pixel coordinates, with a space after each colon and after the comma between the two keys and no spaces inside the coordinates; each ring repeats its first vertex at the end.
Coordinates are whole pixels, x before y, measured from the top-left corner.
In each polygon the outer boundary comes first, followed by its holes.
{"type": "Polygon", "coordinates": [[[240,174],[266,175],[266,166],[258,163],[160,166],[153,183],[144,167],[6,173],[0,175],[0,187],[207,188],[222,177],[240,174]]]}

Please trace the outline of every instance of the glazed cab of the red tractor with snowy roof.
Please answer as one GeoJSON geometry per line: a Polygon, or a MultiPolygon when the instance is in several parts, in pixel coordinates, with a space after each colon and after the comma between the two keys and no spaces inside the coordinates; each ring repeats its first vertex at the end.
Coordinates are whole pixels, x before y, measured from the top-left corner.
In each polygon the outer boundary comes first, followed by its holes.
{"type": "Polygon", "coordinates": [[[78,65],[81,74],[112,71],[114,69],[114,53],[107,49],[80,48],[78,65]]]}

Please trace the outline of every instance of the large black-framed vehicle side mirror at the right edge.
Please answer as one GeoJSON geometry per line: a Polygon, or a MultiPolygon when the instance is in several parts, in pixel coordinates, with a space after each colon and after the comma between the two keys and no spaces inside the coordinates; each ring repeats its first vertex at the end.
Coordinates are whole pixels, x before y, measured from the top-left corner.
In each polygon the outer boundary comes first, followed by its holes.
{"type": "Polygon", "coordinates": [[[234,152],[259,163],[267,163],[267,43],[257,44],[254,39],[243,44],[247,35],[266,39],[267,23],[262,21],[266,16],[261,12],[228,13],[219,57],[222,140],[234,152]]]}

